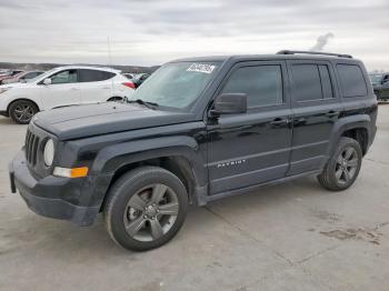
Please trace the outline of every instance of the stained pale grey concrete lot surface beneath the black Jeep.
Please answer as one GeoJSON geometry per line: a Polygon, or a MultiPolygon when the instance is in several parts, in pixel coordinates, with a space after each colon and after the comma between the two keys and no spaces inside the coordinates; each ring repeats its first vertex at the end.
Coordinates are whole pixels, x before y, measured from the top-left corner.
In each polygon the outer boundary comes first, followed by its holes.
{"type": "Polygon", "coordinates": [[[315,178],[192,209],[146,253],[92,228],[38,217],[9,190],[26,127],[0,118],[0,290],[389,290],[389,104],[357,183],[315,178]]]}

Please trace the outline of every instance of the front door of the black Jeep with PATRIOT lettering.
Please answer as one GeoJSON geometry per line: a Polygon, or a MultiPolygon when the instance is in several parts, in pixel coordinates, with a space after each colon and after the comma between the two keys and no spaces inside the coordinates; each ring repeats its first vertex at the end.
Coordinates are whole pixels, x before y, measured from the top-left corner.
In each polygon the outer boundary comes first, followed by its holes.
{"type": "Polygon", "coordinates": [[[248,111],[208,120],[210,194],[260,184],[286,175],[292,130],[283,61],[243,62],[219,93],[247,93],[248,111]]]}

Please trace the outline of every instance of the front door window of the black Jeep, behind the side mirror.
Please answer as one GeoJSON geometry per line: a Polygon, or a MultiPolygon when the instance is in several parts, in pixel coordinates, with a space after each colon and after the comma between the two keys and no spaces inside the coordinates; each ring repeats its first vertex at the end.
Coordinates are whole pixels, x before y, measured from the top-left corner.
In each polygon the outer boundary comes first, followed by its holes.
{"type": "Polygon", "coordinates": [[[247,93],[248,107],[282,103],[282,74],[280,66],[245,67],[236,70],[222,93],[247,93]]]}

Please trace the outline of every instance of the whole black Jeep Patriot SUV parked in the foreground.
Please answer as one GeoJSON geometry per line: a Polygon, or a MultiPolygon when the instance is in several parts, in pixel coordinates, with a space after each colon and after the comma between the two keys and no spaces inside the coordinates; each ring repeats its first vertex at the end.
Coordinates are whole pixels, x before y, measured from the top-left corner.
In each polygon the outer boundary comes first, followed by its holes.
{"type": "Polygon", "coordinates": [[[10,164],[12,192],[42,215],[93,223],[149,250],[181,228],[189,204],[315,174],[339,191],[376,134],[363,64],[346,54],[182,59],[123,102],[37,114],[10,164]]]}

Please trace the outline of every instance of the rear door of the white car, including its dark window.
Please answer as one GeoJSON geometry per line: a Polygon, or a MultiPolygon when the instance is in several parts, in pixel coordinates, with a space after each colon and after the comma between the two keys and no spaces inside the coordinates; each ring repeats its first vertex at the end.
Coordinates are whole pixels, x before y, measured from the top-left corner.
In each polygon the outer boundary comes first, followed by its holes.
{"type": "Polygon", "coordinates": [[[104,102],[112,94],[113,72],[80,69],[80,88],[82,103],[104,102]]]}

